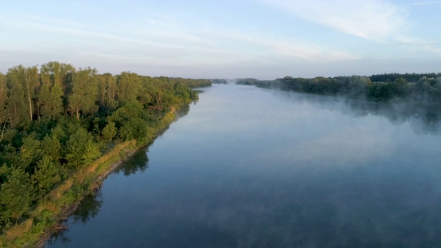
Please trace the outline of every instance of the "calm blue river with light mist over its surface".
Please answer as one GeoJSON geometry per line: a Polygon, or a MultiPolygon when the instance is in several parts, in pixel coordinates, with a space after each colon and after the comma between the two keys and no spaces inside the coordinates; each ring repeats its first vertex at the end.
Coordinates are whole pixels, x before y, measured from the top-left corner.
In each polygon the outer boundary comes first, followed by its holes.
{"type": "Polygon", "coordinates": [[[435,112],[204,90],[47,247],[441,247],[435,112]]]}

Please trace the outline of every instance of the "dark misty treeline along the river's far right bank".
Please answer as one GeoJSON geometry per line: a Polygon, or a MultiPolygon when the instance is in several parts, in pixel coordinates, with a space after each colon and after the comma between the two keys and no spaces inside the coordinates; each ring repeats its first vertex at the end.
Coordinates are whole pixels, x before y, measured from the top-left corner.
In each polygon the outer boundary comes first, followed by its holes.
{"type": "MultiPolygon", "coordinates": [[[[214,79],[213,83],[227,83],[214,79]]],[[[236,79],[237,84],[276,87],[311,94],[341,95],[374,101],[406,99],[422,103],[441,103],[441,74],[378,74],[372,76],[315,77],[285,76],[274,81],[236,79]]]]}

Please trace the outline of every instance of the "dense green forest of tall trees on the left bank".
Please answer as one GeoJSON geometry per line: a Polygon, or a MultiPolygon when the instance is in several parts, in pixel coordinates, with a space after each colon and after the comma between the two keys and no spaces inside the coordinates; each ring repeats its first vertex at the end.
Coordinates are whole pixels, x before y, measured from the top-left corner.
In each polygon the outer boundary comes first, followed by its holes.
{"type": "MultiPolygon", "coordinates": [[[[50,213],[39,205],[55,188],[119,143],[152,141],[168,113],[198,99],[189,87],[210,84],[59,62],[0,73],[0,233],[24,220],[41,233],[50,213]]],[[[84,188],[72,185],[72,201],[84,188]]]]}

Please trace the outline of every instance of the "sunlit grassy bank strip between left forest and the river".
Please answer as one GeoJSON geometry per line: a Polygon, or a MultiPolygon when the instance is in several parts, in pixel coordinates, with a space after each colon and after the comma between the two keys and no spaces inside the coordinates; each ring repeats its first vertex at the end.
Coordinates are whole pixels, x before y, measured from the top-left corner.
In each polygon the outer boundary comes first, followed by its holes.
{"type": "Polygon", "coordinates": [[[144,143],[135,140],[114,144],[103,156],[76,172],[65,182],[53,189],[40,203],[27,220],[14,225],[0,236],[0,247],[43,247],[49,238],[68,229],[63,222],[79,207],[81,200],[101,187],[103,180],[119,167],[134,152],[150,145],[167,127],[176,120],[176,110],[165,114],[155,135],[144,143]]]}

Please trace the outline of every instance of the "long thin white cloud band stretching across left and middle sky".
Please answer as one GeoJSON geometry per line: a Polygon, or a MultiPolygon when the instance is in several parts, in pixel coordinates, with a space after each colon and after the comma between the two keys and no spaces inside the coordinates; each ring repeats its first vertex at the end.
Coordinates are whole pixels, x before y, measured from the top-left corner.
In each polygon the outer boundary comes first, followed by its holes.
{"type": "MultiPolygon", "coordinates": [[[[50,19],[30,15],[15,19],[3,17],[10,23],[9,28],[23,30],[23,33],[57,35],[66,41],[75,37],[76,43],[65,43],[78,48],[81,54],[94,54],[96,57],[123,60],[131,59],[154,61],[159,65],[187,65],[191,59],[195,65],[231,64],[245,61],[265,63],[271,59],[305,59],[307,61],[339,61],[356,59],[344,51],[330,50],[300,39],[271,37],[265,34],[244,33],[234,28],[216,32],[210,28],[192,29],[176,20],[139,19],[138,24],[118,29],[99,30],[93,26],[62,19],[50,19]],[[148,24],[148,25],[147,25],[148,24]],[[125,36],[125,32],[134,33],[125,36]],[[94,41],[94,45],[93,42],[94,41]],[[106,44],[106,45],[101,45],[106,44]],[[173,57],[172,61],[170,58],[173,57]]],[[[48,42],[50,45],[51,43],[48,42]]],[[[51,47],[52,48],[52,47],[51,47]]]]}

